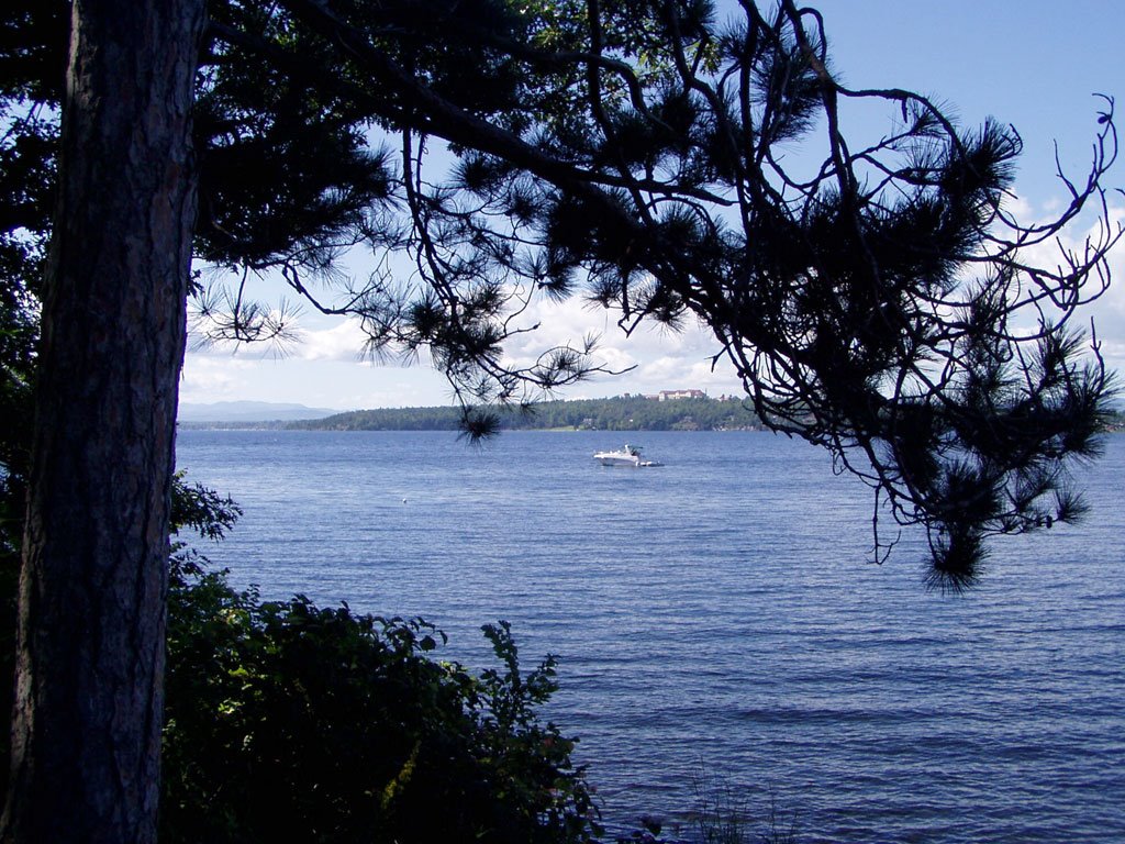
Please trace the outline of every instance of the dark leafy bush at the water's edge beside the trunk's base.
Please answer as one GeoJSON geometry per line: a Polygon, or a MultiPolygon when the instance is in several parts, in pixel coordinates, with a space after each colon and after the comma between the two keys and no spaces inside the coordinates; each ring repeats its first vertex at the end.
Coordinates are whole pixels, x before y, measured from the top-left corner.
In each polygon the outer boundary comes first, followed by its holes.
{"type": "Polygon", "coordinates": [[[435,658],[443,635],[296,596],[263,602],[190,555],[169,604],[162,841],[582,842],[596,809],[540,724],[555,661],[435,658]]]}

